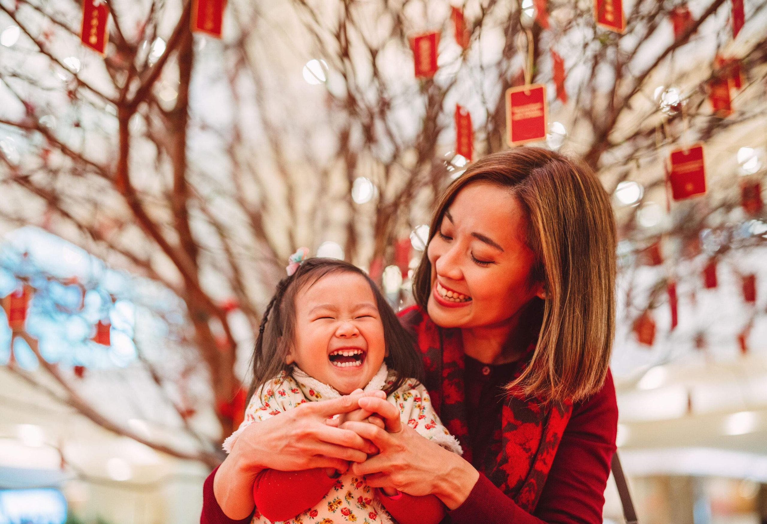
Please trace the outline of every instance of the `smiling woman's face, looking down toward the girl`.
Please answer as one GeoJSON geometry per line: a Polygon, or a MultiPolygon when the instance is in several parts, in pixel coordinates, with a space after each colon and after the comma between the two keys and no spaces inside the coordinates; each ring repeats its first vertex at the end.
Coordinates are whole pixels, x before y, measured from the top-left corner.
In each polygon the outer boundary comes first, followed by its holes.
{"type": "Polygon", "coordinates": [[[428,312],[443,328],[502,325],[534,296],[527,216],[509,189],[476,182],[459,191],[429,243],[428,312]]]}

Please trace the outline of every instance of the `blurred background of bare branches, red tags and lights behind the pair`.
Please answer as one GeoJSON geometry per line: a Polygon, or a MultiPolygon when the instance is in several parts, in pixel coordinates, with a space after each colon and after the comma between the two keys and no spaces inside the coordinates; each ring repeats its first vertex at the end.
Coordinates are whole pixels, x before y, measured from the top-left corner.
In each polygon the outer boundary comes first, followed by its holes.
{"type": "Polygon", "coordinates": [[[765,5],[0,0],[0,523],[196,522],[288,255],[409,305],[536,83],[613,196],[640,522],[765,524],[765,5]]]}

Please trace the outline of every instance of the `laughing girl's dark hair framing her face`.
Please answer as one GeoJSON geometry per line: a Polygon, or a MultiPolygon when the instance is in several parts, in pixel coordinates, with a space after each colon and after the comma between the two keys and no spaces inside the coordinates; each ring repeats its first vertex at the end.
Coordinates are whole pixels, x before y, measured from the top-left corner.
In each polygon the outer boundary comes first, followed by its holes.
{"type": "MultiPolygon", "coordinates": [[[[283,278],[277,285],[275,296],[266,306],[264,317],[258,328],[255,348],[251,359],[253,379],[248,398],[268,381],[290,372],[290,365],[285,364],[288,351],[295,341],[295,297],[304,285],[314,285],[320,278],[333,273],[354,273],[367,280],[370,290],[376,298],[376,305],[384,324],[384,341],[388,357],[384,358],[387,367],[393,371],[394,381],[385,390],[387,395],[402,387],[408,378],[423,380],[423,362],[416,350],[415,341],[400,325],[397,315],[367,274],[343,260],[308,259],[296,272],[283,278]]],[[[339,290],[341,292],[341,290],[339,290]]]]}

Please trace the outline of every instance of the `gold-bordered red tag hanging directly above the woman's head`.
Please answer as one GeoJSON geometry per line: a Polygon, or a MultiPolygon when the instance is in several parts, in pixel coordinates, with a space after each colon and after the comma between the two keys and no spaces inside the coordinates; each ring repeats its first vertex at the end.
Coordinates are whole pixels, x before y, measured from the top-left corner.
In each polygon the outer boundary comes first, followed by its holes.
{"type": "Polygon", "coordinates": [[[545,140],[547,118],[545,85],[532,84],[506,90],[506,140],[509,146],[545,140]]]}

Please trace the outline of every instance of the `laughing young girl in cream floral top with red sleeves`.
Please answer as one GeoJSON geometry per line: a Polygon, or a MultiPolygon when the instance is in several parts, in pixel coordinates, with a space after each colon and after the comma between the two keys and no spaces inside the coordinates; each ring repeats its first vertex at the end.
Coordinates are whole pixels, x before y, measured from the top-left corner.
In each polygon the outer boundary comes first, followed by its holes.
{"type": "MultiPolygon", "coordinates": [[[[298,404],[363,389],[383,391],[400,420],[423,437],[462,453],[439,421],[418,378],[420,355],[374,282],[356,266],[334,259],[291,256],[288,277],[269,302],[253,354],[251,400],[245,420],[224,441],[232,450],[245,427],[298,404]]],[[[344,420],[369,420],[355,410],[344,420]]],[[[436,523],[445,509],[435,496],[384,493],[364,477],[336,470],[264,470],[253,487],[252,522],[292,524],[436,523]],[[393,519],[392,519],[393,517],[393,519]]]]}

